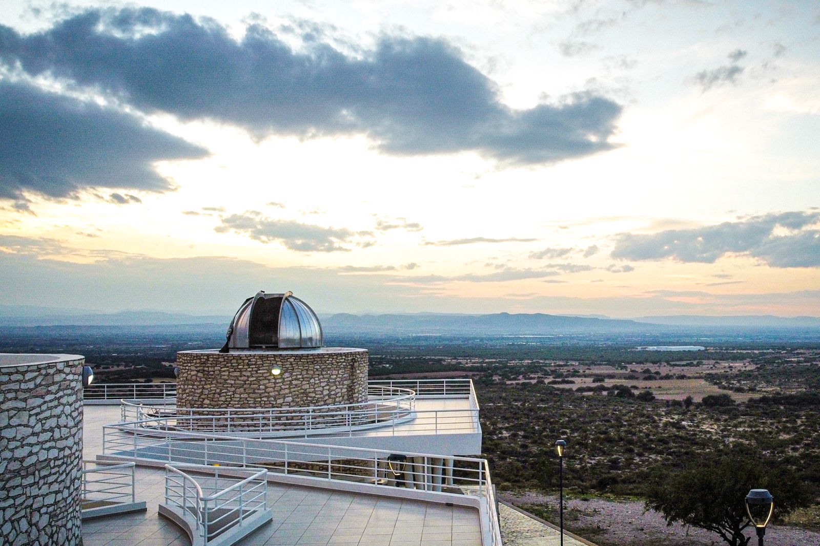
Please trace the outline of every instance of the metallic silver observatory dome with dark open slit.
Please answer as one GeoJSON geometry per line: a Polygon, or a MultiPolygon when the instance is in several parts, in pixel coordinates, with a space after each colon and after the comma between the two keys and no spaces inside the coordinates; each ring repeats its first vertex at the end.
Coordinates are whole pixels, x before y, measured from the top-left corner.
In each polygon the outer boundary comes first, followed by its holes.
{"type": "Polygon", "coordinates": [[[316,313],[293,293],[260,291],[239,307],[221,353],[232,348],[314,348],[324,336],[316,313]]]}

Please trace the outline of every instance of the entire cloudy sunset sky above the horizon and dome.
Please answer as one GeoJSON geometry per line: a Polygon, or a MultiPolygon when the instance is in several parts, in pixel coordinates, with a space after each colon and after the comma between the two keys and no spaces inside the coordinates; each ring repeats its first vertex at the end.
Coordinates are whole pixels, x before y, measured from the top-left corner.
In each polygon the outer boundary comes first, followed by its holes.
{"type": "Polygon", "coordinates": [[[0,4],[0,305],[820,315],[813,0],[0,4]]]}

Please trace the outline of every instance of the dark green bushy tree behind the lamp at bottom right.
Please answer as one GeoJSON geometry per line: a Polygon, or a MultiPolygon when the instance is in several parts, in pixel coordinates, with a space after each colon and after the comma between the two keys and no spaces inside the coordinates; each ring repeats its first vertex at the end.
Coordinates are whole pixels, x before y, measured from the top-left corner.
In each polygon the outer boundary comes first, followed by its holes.
{"type": "Polygon", "coordinates": [[[749,489],[768,489],[778,517],[814,500],[809,486],[777,457],[736,445],[701,454],[679,471],[655,469],[647,483],[646,508],[663,514],[667,525],[679,521],[712,531],[731,546],[746,546],[752,538],[744,535],[750,525],[749,489]]]}

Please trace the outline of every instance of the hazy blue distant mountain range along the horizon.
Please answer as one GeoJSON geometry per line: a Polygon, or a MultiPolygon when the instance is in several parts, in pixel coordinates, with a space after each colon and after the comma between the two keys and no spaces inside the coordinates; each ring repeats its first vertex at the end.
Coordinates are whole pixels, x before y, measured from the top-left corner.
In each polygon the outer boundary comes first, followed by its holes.
{"type": "MultiPolygon", "coordinates": [[[[0,325],[198,325],[227,326],[230,315],[189,315],[160,311],[88,312],[55,307],[0,305],[0,325]]],[[[467,315],[449,313],[394,313],[322,316],[322,325],[334,334],[519,334],[549,335],[582,332],[645,332],[669,327],[799,328],[820,329],[820,317],[795,316],[640,316],[613,319],[604,315],[547,315],[544,313],[467,315]]]]}

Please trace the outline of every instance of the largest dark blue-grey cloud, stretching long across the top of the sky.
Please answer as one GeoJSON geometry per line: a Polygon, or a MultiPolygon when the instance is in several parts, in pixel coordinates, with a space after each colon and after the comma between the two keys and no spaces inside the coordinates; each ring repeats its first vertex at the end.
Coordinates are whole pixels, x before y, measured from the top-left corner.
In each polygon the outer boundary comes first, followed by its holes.
{"type": "Polygon", "coordinates": [[[223,121],[258,137],[367,134],[383,152],[474,150],[525,164],[613,148],[622,107],[602,96],[515,110],[443,39],[385,35],[353,56],[309,34],[296,50],[258,24],[237,41],[213,20],[89,9],[38,34],[0,26],[0,60],[143,111],[223,121]]]}

